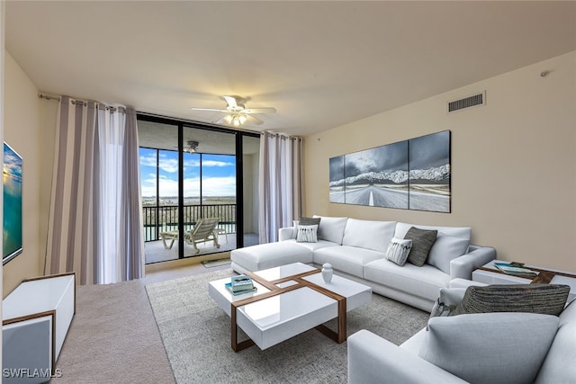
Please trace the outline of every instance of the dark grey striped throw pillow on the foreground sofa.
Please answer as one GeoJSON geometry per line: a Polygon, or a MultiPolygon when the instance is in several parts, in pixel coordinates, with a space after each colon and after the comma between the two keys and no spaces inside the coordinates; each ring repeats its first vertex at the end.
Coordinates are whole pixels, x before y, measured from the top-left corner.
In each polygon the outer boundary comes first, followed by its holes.
{"type": "Polygon", "coordinates": [[[452,313],[532,312],[558,316],[570,287],[559,284],[502,284],[471,286],[452,313]]]}

